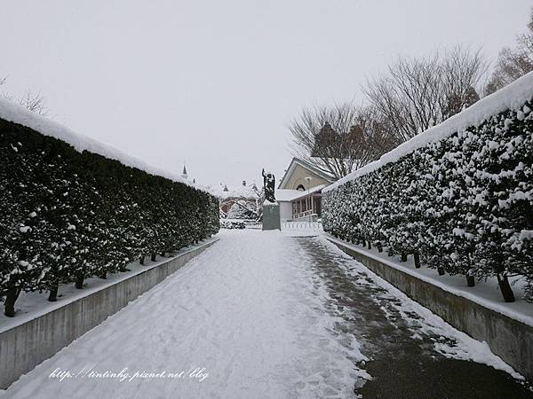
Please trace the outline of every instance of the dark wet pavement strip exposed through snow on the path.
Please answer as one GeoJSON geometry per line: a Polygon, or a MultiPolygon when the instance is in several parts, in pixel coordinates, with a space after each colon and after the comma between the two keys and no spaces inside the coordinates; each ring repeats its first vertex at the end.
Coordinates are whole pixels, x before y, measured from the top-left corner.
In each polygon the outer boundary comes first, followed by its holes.
{"type": "MultiPolygon", "coordinates": [[[[306,267],[325,287],[326,309],[338,317],[339,336],[353,334],[369,361],[357,364],[372,376],[356,381],[363,398],[533,398],[528,383],[488,365],[443,356],[461,353],[453,334],[427,328],[424,317],[395,293],[376,284],[370,271],[335,253],[318,238],[295,238],[314,262],[306,267]],[[448,348],[448,349],[447,349],[448,348]],[[360,387],[362,385],[362,387],[360,387]]],[[[431,325],[431,323],[430,323],[431,325]]],[[[431,326],[430,326],[431,327],[431,326]]],[[[346,338],[344,338],[346,340],[346,338]]]]}

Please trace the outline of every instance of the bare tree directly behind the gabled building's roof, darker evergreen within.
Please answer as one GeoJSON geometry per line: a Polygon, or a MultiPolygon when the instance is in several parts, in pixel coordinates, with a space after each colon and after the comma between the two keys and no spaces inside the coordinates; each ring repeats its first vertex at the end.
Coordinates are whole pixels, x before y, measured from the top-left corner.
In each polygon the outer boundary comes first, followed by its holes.
{"type": "Polygon", "coordinates": [[[373,116],[352,103],[303,108],[289,126],[293,153],[335,178],[346,176],[390,149],[373,116]]]}

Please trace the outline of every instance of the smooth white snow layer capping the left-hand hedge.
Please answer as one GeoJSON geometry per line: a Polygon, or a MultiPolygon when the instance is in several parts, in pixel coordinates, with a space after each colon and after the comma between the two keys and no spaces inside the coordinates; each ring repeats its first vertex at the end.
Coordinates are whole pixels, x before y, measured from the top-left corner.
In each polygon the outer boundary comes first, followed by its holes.
{"type": "Polygon", "coordinates": [[[84,151],[97,153],[107,159],[118,160],[125,166],[144,170],[150,175],[162,176],[174,182],[187,184],[197,190],[208,192],[202,185],[193,184],[187,179],[166,170],[154,168],[143,160],[139,160],[131,155],[123,153],[111,145],[105,145],[91,137],[80,135],[56,121],[51,121],[36,113],[32,113],[23,106],[13,104],[11,101],[4,98],[0,98],[0,118],[5,121],[12,121],[26,126],[27,128],[34,129],[44,136],[55,137],[72,145],[76,151],[80,153],[84,151]]]}

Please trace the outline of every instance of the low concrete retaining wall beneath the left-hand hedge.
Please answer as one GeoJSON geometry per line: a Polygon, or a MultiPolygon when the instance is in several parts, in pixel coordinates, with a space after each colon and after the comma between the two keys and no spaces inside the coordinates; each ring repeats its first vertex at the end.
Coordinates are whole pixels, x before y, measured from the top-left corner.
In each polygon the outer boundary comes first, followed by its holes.
{"type": "Polygon", "coordinates": [[[20,375],[123,309],[128,302],[162,282],[216,241],[213,239],[196,246],[167,262],[1,332],[0,388],[9,387],[20,375]]]}

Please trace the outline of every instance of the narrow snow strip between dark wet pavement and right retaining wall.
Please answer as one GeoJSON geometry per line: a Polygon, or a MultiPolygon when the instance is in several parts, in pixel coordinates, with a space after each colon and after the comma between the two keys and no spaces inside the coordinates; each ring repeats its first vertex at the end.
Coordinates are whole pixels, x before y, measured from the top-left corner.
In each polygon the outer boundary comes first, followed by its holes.
{"type": "MultiPolygon", "coordinates": [[[[487,364],[497,370],[508,372],[516,379],[524,379],[520,373],[513,370],[513,367],[506,364],[499,356],[494,355],[486,342],[474,340],[465,332],[458,331],[452,325],[445,322],[442,317],[435,315],[431,310],[411,300],[405,293],[402,293],[402,291],[392,284],[364,267],[362,263],[355,261],[354,258],[343,252],[324,236],[321,236],[321,241],[323,245],[329,247],[330,251],[349,260],[345,265],[339,265],[339,267],[345,268],[348,276],[355,277],[358,274],[357,271],[363,271],[370,276],[371,282],[359,278],[357,280],[358,285],[378,285],[387,290],[390,297],[389,304],[408,322],[412,329],[414,339],[420,339],[418,332],[439,336],[440,340],[434,340],[434,348],[441,355],[459,360],[472,360],[480,364],[487,364]],[[418,315],[418,317],[412,317],[413,314],[418,315]]],[[[386,311],[386,309],[383,310],[386,311]]]]}

